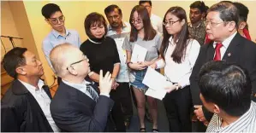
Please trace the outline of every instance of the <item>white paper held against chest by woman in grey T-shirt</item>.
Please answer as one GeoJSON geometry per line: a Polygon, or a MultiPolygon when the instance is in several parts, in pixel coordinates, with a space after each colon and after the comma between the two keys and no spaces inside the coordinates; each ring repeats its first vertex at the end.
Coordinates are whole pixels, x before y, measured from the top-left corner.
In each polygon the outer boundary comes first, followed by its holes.
{"type": "Polygon", "coordinates": [[[131,61],[133,63],[137,63],[138,61],[141,61],[141,62],[145,61],[146,52],[147,52],[146,48],[143,48],[140,45],[135,43],[131,61]]]}

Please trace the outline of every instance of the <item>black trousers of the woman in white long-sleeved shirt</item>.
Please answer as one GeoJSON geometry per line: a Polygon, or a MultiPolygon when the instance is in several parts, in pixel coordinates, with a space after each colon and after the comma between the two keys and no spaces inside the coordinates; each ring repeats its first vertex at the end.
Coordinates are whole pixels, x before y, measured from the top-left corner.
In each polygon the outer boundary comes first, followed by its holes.
{"type": "Polygon", "coordinates": [[[174,90],[164,97],[164,107],[171,132],[191,132],[192,98],[189,86],[174,90]]]}

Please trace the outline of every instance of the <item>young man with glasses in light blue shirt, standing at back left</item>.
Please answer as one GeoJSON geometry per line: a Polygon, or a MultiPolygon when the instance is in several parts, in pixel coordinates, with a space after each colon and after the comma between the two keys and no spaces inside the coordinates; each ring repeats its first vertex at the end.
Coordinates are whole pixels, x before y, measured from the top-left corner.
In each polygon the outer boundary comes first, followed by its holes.
{"type": "MultiPolygon", "coordinates": [[[[44,39],[42,46],[42,49],[45,53],[45,58],[52,69],[51,61],[49,59],[51,49],[61,43],[70,43],[77,48],[80,48],[80,37],[78,32],[65,28],[65,16],[57,4],[46,4],[42,8],[42,14],[45,17],[45,21],[52,28],[52,31],[44,39]]],[[[58,84],[59,82],[60,78],[58,78],[58,84]]]]}

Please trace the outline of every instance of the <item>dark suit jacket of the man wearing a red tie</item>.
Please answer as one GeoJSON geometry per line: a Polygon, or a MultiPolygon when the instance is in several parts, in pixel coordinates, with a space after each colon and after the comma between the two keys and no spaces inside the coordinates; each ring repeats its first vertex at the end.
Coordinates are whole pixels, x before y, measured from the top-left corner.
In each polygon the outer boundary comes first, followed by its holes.
{"type": "MultiPolygon", "coordinates": [[[[215,54],[213,42],[202,45],[199,56],[190,76],[190,89],[193,98],[193,105],[201,105],[199,99],[199,70],[207,62],[212,61],[215,54]]],[[[238,64],[247,70],[253,84],[253,93],[256,93],[256,44],[241,37],[237,32],[229,43],[229,47],[223,55],[223,61],[238,64]]],[[[207,116],[205,116],[207,117],[207,116]]],[[[207,119],[207,118],[206,118],[207,119]]],[[[208,118],[209,119],[209,118],[208,118]]],[[[211,117],[210,117],[211,119],[211,117]]]]}

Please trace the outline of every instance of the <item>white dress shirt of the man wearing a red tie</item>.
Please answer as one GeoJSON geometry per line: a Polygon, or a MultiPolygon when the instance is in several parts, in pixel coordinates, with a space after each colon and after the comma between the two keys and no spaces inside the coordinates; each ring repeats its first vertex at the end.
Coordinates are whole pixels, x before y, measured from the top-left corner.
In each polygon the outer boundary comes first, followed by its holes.
{"type": "MultiPolygon", "coordinates": [[[[233,40],[233,38],[235,37],[235,34],[237,32],[235,32],[233,35],[229,36],[229,38],[226,38],[223,42],[221,42],[223,44],[223,47],[220,48],[220,55],[221,55],[221,59],[223,59],[223,56],[225,55],[225,52],[226,50],[228,49],[229,47],[229,43],[233,40]]],[[[213,48],[215,49],[216,48],[216,44],[219,43],[219,42],[214,42],[213,43],[213,48]]],[[[214,54],[215,56],[215,54],[214,54]]],[[[214,58],[213,56],[213,58],[214,58]]]]}

